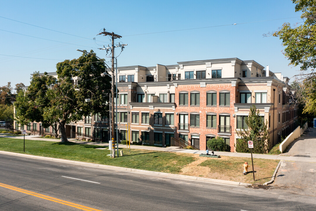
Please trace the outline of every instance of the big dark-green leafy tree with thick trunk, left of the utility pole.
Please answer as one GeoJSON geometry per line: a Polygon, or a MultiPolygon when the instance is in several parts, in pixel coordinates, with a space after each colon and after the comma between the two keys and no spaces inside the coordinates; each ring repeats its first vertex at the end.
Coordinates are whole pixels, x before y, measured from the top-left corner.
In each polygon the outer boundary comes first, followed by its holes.
{"type": "MultiPolygon", "coordinates": [[[[90,53],[94,54],[92,50],[90,53]]],[[[35,73],[24,94],[27,97],[21,97],[26,100],[16,104],[16,108],[29,121],[58,124],[61,141],[68,141],[66,124],[82,120],[82,116],[90,114],[105,115],[109,110],[106,96],[110,94],[111,78],[103,75],[106,65],[94,55],[83,53],[78,59],[58,63],[57,79],[47,73],[35,73]],[[90,102],[86,102],[86,99],[90,99],[90,102]]]]}

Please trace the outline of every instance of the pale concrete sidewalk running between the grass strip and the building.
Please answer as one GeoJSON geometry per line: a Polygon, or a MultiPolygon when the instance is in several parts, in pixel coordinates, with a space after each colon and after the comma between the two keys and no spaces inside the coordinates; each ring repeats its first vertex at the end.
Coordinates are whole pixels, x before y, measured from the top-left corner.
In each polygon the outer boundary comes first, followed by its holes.
{"type": "MultiPolygon", "coordinates": [[[[0,137],[5,138],[15,138],[15,139],[23,139],[23,136],[7,136],[0,135],[0,137]]],[[[39,138],[39,136],[34,135],[26,135],[25,139],[28,140],[44,140],[44,141],[54,141],[58,142],[58,139],[44,139],[39,138]]],[[[109,146],[109,143],[100,143],[100,142],[88,142],[88,141],[79,141],[76,139],[68,139],[70,142],[78,143],[78,144],[87,144],[87,145],[97,145],[97,146],[109,146]]],[[[119,144],[120,148],[126,148],[126,145],[119,144]]],[[[191,153],[191,154],[202,154],[206,153],[205,150],[190,150],[190,149],[182,149],[177,146],[169,146],[166,148],[163,147],[155,147],[155,146],[143,146],[143,145],[131,145],[131,149],[143,149],[143,150],[155,150],[155,151],[163,151],[163,152],[182,152],[182,153],[191,153]]],[[[221,156],[232,156],[232,157],[242,157],[242,158],[251,158],[250,153],[240,153],[240,152],[215,152],[216,155],[221,156]]],[[[295,157],[295,156],[282,156],[282,155],[267,155],[267,154],[252,154],[253,158],[262,158],[262,159],[272,159],[272,160],[288,160],[288,161],[303,161],[303,162],[316,162],[316,157],[307,158],[307,157],[295,157]]]]}

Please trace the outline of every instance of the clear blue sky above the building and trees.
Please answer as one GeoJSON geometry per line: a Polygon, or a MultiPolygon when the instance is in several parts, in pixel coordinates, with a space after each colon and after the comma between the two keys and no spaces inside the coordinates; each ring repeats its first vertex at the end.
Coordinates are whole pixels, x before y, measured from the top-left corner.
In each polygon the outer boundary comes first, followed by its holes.
{"type": "Polygon", "coordinates": [[[123,36],[115,42],[128,44],[118,57],[119,66],[238,57],[292,77],[299,67],[288,66],[281,40],[262,34],[277,30],[284,22],[302,22],[294,6],[290,0],[3,1],[0,54],[9,56],[0,55],[0,86],[9,81],[13,87],[17,83],[29,85],[34,71],[54,72],[58,62],[78,58],[81,53],[76,49],[92,49],[105,58],[106,52],[97,48],[107,46],[110,40],[96,35],[103,28],[123,36]],[[174,31],[190,28],[200,29],[174,31]],[[146,34],[162,31],[173,32],[146,34]]]}

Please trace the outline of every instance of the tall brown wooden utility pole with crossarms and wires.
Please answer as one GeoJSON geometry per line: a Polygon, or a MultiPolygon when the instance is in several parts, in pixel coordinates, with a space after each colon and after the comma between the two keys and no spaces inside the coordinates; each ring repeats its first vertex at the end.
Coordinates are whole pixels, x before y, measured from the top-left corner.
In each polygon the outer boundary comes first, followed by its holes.
{"type": "MultiPolygon", "coordinates": [[[[103,29],[103,32],[99,33],[99,34],[104,34],[104,36],[106,35],[109,35],[111,36],[112,38],[112,47],[108,47],[108,48],[99,48],[101,50],[107,50],[109,48],[111,48],[111,54],[112,54],[112,90],[111,90],[111,94],[112,94],[112,102],[111,102],[111,114],[112,114],[112,130],[111,130],[111,133],[112,133],[112,158],[115,158],[115,142],[114,142],[114,126],[115,126],[115,121],[114,121],[114,116],[116,117],[116,119],[118,118],[117,117],[117,112],[116,112],[116,115],[114,115],[114,48],[115,47],[124,47],[125,45],[117,45],[117,46],[114,46],[114,39],[116,38],[121,38],[122,36],[118,35],[118,34],[114,34],[114,32],[110,33],[110,32],[106,32],[105,29],[103,29]]],[[[116,81],[117,81],[117,74],[115,76],[116,78],[116,81]]],[[[117,84],[116,84],[116,98],[117,98],[117,84]]],[[[116,109],[117,110],[117,109],[116,109]]],[[[117,127],[116,127],[117,128],[117,127]]],[[[118,132],[116,130],[116,132],[118,132]]],[[[117,146],[119,146],[119,143],[118,143],[118,136],[116,136],[116,140],[117,140],[117,146]]],[[[109,146],[111,147],[111,146],[109,146]]],[[[118,147],[118,157],[119,157],[119,147],[118,147]]]]}

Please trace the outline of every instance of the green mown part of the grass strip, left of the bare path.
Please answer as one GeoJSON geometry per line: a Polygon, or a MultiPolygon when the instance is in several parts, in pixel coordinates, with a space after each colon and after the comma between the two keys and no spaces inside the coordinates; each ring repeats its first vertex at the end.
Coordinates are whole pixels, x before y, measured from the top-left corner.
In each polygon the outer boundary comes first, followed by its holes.
{"type": "Polygon", "coordinates": [[[23,139],[0,138],[1,151],[175,174],[179,173],[184,165],[195,160],[191,154],[137,149],[131,149],[131,152],[127,152],[126,148],[121,149],[124,153],[123,157],[114,159],[107,156],[107,154],[110,154],[110,150],[95,148],[102,147],[72,142],[60,143],[44,140],[25,140],[25,152],[23,152],[23,139]]]}

